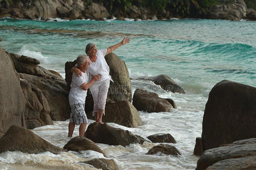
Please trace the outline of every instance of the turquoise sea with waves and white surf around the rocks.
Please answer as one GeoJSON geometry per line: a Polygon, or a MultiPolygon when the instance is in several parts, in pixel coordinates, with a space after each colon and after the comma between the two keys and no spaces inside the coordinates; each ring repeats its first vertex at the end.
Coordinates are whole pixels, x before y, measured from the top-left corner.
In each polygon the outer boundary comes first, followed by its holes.
{"type": "MultiPolygon", "coordinates": [[[[0,19],[0,45],[9,52],[37,58],[41,66],[65,76],[65,62],[85,54],[87,43],[94,42],[102,49],[130,36],[131,42],[115,53],[125,61],[131,78],[167,74],[186,91],[184,95],[173,94],[153,83],[132,80],[133,91],[137,87],[148,88],[161,97],[174,99],[178,109],[165,113],[139,112],[143,122],[139,129],[112,125],[144,138],[171,133],[182,156],[145,156],[151,144],[131,145],[125,150],[114,147],[116,152],[111,150],[113,146],[99,145],[121,169],[194,169],[198,160],[192,154],[195,138],[202,133],[204,107],[212,87],[223,79],[256,87],[256,22],[58,20],[0,19]]],[[[51,128],[59,130],[60,126],[67,127],[68,122],[57,122],[51,128]]],[[[54,145],[65,145],[66,136],[55,139],[46,129],[35,131],[54,145]]],[[[65,134],[67,129],[62,130],[65,134]]],[[[86,154],[79,155],[85,157],[86,154]]]]}

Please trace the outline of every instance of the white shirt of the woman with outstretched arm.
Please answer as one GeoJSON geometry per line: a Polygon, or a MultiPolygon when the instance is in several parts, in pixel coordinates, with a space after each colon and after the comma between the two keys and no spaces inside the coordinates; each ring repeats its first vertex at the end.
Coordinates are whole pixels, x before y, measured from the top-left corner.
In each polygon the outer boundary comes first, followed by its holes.
{"type": "Polygon", "coordinates": [[[99,81],[96,81],[94,84],[103,82],[106,79],[111,79],[110,77],[110,67],[107,65],[106,59],[104,56],[107,53],[107,49],[98,50],[96,53],[96,61],[91,62],[89,59],[90,65],[89,65],[89,72],[91,75],[95,76],[97,74],[101,75],[101,78],[99,81]]]}

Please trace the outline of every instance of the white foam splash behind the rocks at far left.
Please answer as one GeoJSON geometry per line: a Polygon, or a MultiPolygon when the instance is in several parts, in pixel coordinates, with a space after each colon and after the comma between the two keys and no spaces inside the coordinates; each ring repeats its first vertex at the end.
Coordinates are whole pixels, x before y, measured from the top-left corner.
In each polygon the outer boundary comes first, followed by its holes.
{"type": "Polygon", "coordinates": [[[19,54],[20,56],[23,55],[23,56],[36,58],[43,64],[48,63],[48,60],[47,60],[48,57],[44,57],[41,52],[32,50],[32,49],[36,49],[36,48],[33,46],[24,45],[24,46],[22,46],[22,48],[19,50],[19,52],[17,54],[19,54]]]}

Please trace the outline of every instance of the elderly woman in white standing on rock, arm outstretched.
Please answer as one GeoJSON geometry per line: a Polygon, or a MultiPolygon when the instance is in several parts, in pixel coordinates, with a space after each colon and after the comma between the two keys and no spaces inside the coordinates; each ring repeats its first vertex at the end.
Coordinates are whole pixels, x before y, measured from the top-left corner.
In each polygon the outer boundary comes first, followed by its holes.
{"type": "MultiPolygon", "coordinates": [[[[95,82],[91,87],[91,95],[93,95],[94,110],[96,122],[102,122],[102,116],[104,113],[108,88],[110,87],[110,67],[108,67],[105,60],[105,56],[115,49],[119,48],[121,45],[127,44],[130,41],[129,37],[125,37],[123,41],[118,44],[112,45],[107,49],[98,50],[97,46],[93,43],[86,45],[85,52],[89,56],[89,73],[91,75],[101,75],[101,79],[95,82]]],[[[72,68],[72,72],[75,72],[77,76],[81,76],[81,71],[76,67],[72,68]]]]}

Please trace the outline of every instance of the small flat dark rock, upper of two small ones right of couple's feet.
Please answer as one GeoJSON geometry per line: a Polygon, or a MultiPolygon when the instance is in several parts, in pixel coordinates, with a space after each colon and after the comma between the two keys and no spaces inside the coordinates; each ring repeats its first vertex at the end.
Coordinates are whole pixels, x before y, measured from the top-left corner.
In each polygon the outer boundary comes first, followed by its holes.
{"type": "Polygon", "coordinates": [[[150,135],[147,138],[154,143],[177,143],[174,137],[169,133],[167,134],[158,133],[158,134],[150,135]]]}

